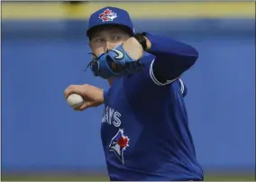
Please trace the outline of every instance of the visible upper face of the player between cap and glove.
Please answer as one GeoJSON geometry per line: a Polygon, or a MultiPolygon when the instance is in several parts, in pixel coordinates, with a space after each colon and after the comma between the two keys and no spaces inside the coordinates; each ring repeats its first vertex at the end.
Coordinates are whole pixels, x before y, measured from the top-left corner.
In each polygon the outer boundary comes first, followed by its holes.
{"type": "Polygon", "coordinates": [[[99,55],[107,50],[111,50],[117,45],[129,39],[130,35],[123,30],[113,27],[97,31],[90,41],[90,48],[94,54],[99,55]]]}

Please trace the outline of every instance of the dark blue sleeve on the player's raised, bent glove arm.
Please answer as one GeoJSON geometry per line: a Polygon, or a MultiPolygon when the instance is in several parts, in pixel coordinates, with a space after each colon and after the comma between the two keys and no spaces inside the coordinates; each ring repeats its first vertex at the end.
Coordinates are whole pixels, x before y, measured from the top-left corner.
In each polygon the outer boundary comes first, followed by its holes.
{"type": "Polygon", "coordinates": [[[196,63],[198,51],[191,45],[148,32],[145,35],[151,42],[151,48],[147,51],[157,58],[152,68],[161,83],[172,82],[196,63]]]}

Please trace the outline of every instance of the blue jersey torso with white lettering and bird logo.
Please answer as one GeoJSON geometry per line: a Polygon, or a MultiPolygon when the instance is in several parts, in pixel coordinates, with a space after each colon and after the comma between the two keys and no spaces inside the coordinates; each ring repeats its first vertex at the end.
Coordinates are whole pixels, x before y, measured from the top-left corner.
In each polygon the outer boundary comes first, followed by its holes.
{"type": "Polygon", "coordinates": [[[203,180],[188,128],[186,86],[180,78],[158,81],[155,57],[120,77],[105,92],[101,138],[111,180],[203,180]]]}

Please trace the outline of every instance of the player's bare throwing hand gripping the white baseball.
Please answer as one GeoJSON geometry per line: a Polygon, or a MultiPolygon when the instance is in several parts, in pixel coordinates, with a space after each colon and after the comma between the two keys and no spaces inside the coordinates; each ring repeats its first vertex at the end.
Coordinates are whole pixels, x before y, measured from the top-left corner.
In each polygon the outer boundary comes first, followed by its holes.
{"type": "Polygon", "coordinates": [[[72,94],[82,96],[84,101],[82,105],[73,107],[77,111],[83,111],[89,107],[96,107],[104,103],[103,89],[96,86],[85,85],[71,85],[64,91],[64,96],[68,98],[72,94]]]}

